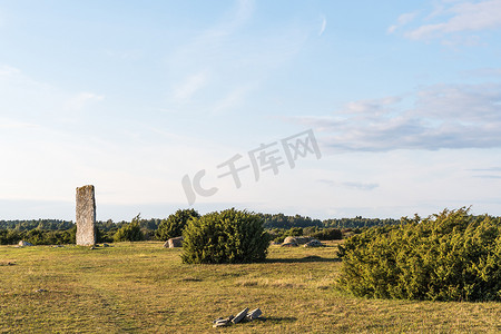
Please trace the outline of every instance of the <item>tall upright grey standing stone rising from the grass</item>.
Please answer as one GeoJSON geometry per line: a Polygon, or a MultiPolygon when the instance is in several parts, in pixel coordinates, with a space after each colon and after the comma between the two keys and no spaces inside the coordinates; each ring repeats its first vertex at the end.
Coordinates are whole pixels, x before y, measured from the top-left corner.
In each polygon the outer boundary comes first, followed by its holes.
{"type": "Polygon", "coordinates": [[[77,245],[96,245],[96,198],[94,186],[77,188],[77,245]]]}

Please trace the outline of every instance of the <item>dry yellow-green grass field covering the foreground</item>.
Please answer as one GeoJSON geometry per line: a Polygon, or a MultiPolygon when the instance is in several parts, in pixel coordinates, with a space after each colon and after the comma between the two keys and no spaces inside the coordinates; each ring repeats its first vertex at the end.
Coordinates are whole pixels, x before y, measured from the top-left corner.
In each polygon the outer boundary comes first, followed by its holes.
{"type": "Polygon", "coordinates": [[[336,291],[335,253],[335,243],[271,246],[262,264],[185,265],[179,249],[161,243],[0,246],[0,333],[501,332],[501,303],[363,299],[336,291]],[[212,327],[245,307],[259,307],[266,320],[212,327]]]}

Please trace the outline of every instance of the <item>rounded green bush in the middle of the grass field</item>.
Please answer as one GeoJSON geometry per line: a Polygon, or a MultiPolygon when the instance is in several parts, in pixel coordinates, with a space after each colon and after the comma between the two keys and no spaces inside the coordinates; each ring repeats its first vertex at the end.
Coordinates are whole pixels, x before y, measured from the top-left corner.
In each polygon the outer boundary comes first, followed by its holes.
{"type": "Polygon", "coordinates": [[[261,262],[269,245],[263,218],[234,208],[189,220],[183,237],[184,263],[261,262]]]}

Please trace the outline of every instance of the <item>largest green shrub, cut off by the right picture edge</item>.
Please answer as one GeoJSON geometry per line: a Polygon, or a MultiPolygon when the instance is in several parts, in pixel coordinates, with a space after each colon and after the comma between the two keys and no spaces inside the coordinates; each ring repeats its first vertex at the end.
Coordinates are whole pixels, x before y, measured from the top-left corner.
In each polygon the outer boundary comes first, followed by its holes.
{"type": "Polygon", "coordinates": [[[444,210],[371,228],[340,248],[338,283],[358,296],[501,299],[501,219],[444,210]]]}

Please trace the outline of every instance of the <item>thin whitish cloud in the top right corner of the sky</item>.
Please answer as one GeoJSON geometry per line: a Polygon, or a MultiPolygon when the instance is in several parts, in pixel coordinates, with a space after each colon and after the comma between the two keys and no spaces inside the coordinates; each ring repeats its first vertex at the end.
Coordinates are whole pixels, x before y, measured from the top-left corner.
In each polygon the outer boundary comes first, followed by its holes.
{"type": "MultiPolygon", "coordinates": [[[[399,17],[397,23],[389,28],[389,32],[394,32],[414,18],[415,16],[402,14],[399,17]]],[[[501,0],[475,2],[443,0],[425,14],[421,22],[420,26],[410,27],[403,32],[403,36],[412,40],[442,39],[442,42],[449,45],[475,43],[475,36],[454,35],[501,28],[501,0]]]]}

